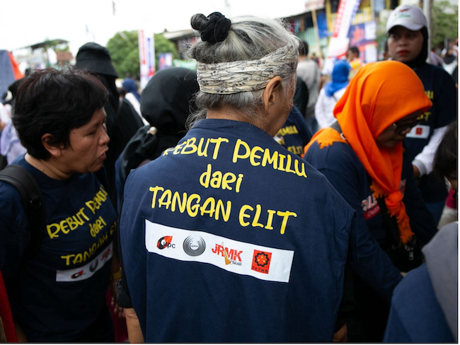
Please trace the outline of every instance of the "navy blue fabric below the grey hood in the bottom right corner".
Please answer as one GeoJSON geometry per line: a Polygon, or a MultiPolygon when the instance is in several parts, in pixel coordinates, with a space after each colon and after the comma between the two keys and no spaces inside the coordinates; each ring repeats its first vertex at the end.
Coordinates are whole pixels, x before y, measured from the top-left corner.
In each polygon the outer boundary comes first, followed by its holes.
{"type": "Polygon", "coordinates": [[[432,286],[427,265],[396,286],[384,337],[386,343],[456,343],[432,286]]]}

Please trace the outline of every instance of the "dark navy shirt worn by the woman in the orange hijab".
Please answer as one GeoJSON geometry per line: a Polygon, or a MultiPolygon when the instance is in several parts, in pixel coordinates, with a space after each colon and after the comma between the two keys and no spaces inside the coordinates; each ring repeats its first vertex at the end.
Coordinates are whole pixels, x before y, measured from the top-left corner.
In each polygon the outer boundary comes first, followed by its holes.
{"type": "MultiPolygon", "coordinates": [[[[372,197],[364,166],[350,145],[341,142],[322,149],[315,143],[306,152],[304,159],[322,172],[357,211],[359,262],[352,262],[352,267],[363,281],[390,301],[393,289],[401,281],[401,274],[384,252],[390,243],[379,205],[372,197]]],[[[403,202],[410,218],[410,226],[418,235],[421,245],[425,245],[435,235],[437,228],[420,197],[413,178],[412,165],[407,158],[403,161],[401,190],[404,193],[403,202]]]]}

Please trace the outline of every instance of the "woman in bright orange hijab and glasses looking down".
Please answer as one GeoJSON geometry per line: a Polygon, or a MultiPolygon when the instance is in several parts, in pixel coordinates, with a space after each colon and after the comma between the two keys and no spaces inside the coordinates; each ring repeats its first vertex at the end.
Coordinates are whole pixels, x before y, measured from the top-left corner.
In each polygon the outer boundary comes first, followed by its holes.
{"type": "Polygon", "coordinates": [[[357,302],[349,341],[383,339],[400,271],[421,264],[437,228],[421,199],[403,140],[432,103],[401,62],[362,67],[335,105],[337,122],[318,131],[304,159],[328,178],[358,215],[358,262],[350,262],[357,302]]]}

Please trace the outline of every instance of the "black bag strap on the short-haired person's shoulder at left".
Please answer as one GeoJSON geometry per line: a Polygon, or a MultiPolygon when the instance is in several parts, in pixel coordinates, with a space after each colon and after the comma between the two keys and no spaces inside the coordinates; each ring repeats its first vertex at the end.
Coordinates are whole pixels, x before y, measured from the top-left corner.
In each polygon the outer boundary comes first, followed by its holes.
{"type": "Polygon", "coordinates": [[[30,241],[25,259],[32,259],[40,251],[45,233],[45,206],[42,191],[35,178],[20,165],[10,164],[0,171],[0,181],[13,185],[21,193],[30,226],[30,241]]]}

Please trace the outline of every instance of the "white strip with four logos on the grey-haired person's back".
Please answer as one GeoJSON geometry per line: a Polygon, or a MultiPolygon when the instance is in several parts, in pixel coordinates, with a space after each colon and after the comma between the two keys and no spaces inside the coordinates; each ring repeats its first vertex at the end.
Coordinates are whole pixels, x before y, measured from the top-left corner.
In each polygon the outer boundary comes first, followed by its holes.
{"type": "Polygon", "coordinates": [[[289,282],[294,259],[294,250],[253,245],[148,220],[145,220],[145,247],[163,257],[213,264],[236,274],[282,283],[289,282]]]}

